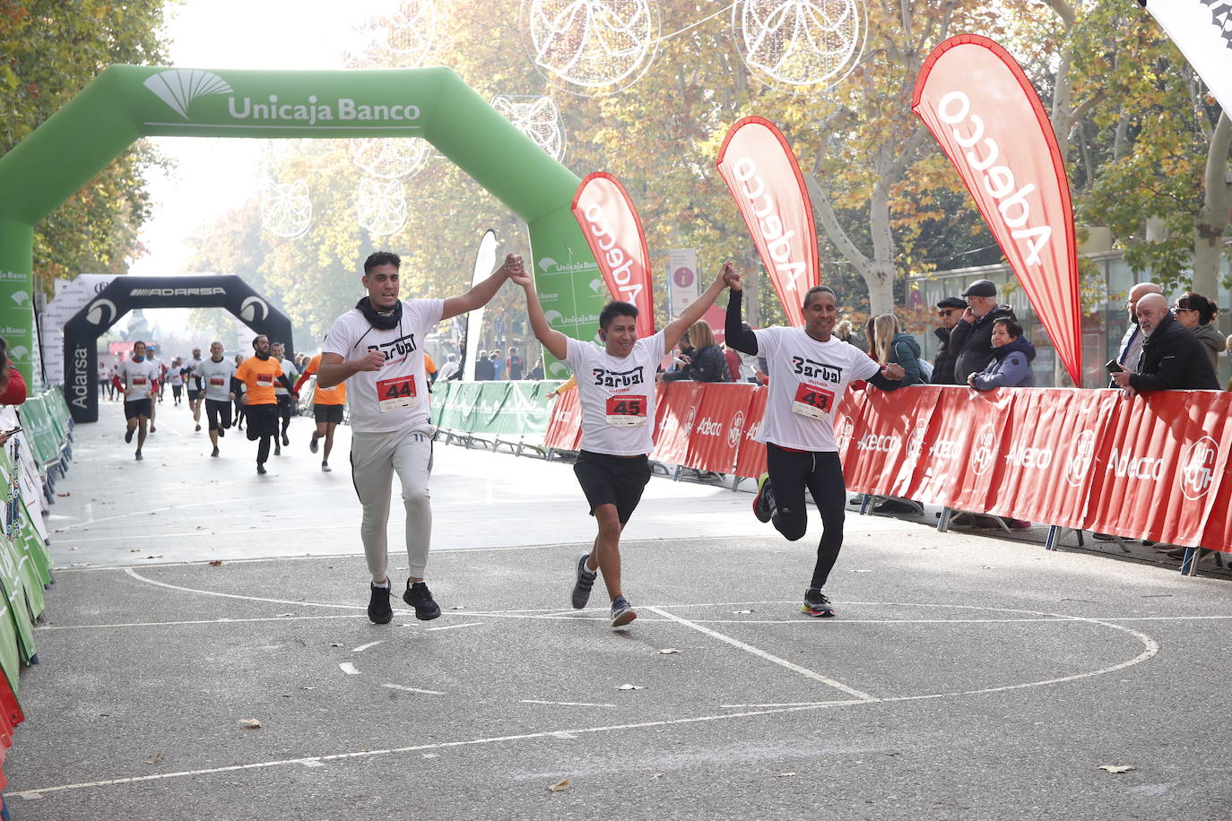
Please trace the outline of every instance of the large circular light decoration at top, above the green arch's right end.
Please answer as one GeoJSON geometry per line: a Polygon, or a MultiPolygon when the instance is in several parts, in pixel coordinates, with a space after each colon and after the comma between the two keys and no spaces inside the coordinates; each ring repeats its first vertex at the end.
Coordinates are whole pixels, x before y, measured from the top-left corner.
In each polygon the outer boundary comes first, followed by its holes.
{"type": "Polygon", "coordinates": [[[654,59],[657,0],[522,0],[535,65],[583,96],[616,94],[654,59]]]}

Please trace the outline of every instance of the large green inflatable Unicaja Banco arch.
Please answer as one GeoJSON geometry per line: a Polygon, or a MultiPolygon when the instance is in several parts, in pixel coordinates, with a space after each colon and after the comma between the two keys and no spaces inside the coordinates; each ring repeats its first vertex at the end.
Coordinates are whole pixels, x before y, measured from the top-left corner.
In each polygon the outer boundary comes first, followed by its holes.
{"type": "Polygon", "coordinates": [[[553,327],[595,334],[604,290],[590,287],[599,268],[569,210],[580,181],[452,70],[112,65],[0,158],[0,335],[32,385],[34,225],[142,137],[426,139],[527,223],[553,327]]]}

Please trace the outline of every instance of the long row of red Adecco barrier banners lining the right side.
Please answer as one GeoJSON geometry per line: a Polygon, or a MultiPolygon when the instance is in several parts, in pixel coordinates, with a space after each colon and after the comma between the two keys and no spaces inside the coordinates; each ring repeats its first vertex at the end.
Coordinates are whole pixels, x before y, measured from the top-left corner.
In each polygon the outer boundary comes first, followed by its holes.
{"type": "MultiPolygon", "coordinates": [[[[753,438],[764,388],[669,383],[659,390],[653,459],[726,471],[728,451],[716,431],[721,414],[739,412],[743,394],[734,473],[765,470],[765,447],[753,438]]],[[[570,394],[548,426],[559,449],[577,449],[580,438],[570,394]]],[[[1232,553],[1230,393],[1126,400],[1114,390],[848,391],[834,426],[848,486],[857,492],[1232,553]]],[[[727,420],[728,436],[736,427],[727,420]]]]}

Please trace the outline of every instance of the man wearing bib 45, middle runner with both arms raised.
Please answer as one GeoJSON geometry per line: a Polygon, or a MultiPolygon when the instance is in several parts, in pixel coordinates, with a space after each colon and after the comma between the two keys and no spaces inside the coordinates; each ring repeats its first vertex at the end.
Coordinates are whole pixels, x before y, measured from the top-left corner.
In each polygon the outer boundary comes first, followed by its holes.
{"type": "Polygon", "coordinates": [[[580,611],[586,606],[595,576],[602,571],[612,602],[614,628],[637,618],[621,590],[620,535],[650,480],[648,454],[654,448],[655,368],[689,326],[715,304],[732,277],[738,274],[731,262],[724,262],[706,293],[649,338],[637,338],[636,306],[626,302],[609,303],[599,314],[599,338],[604,342],[604,347],[599,347],[548,327],[533,277],[529,273],[514,276],[514,282],[526,290],[526,310],[536,338],[552,356],[565,361],[578,379],[582,452],[573,473],[590,505],[599,534],[594,549],[574,565],[573,607],[580,611]]]}

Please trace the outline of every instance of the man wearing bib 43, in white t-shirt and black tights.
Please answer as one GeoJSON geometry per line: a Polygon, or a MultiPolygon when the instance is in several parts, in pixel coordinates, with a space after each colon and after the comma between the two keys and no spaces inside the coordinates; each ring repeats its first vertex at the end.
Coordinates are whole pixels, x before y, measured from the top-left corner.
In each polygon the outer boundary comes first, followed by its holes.
{"type": "Polygon", "coordinates": [[[727,345],[765,357],[770,368],[765,415],[758,441],[766,444],[766,469],[758,481],[753,512],[788,540],[808,529],[804,489],[822,512],[822,540],[817,564],[804,592],[801,611],[809,615],[834,615],[834,606],[822,592],[843,548],[846,487],[834,442],[834,409],[848,385],[859,379],[882,390],[894,390],[903,378],[897,364],[882,368],[860,348],[830,332],[838,320],[838,299],[825,286],[804,294],[803,327],[745,330],[740,322],[740,277],[732,283],[724,331],[727,345]]]}

